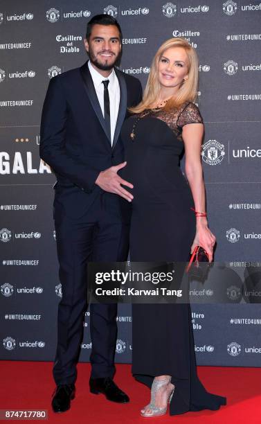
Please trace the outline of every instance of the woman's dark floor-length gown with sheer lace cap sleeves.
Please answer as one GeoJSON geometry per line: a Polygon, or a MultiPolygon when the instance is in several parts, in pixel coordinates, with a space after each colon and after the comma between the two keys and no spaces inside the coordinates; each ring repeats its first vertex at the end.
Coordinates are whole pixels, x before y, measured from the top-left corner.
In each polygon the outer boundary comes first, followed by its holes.
{"type": "MultiPolygon", "coordinates": [[[[196,222],[190,187],[179,167],[181,134],[183,125],[201,122],[190,102],[170,112],[147,109],[125,121],[121,136],[127,166],[120,175],[134,184],[131,261],[188,260],[196,222]]],[[[132,373],[148,387],[154,376],[172,376],[171,415],[226,405],[226,398],[208,393],[197,377],[188,303],[134,304],[132,313],[132,373]]]]}

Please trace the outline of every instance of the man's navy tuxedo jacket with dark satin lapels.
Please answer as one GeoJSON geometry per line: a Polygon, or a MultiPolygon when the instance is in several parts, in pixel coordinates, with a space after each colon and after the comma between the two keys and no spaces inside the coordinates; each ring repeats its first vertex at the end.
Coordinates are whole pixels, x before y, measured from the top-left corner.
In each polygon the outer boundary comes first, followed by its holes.
{"type": "Polygon", "coordinates": [[[112,146],[88,62],[55,76],[48,86],[42,111],[40,157],[57,178],[55,202],[72,218],[80,218],[101,193],[95,184],[100,171],[124,160],[120,128],[129,116],[127,107],[141,101],[142,87],[137,78],[116,68],[115,72],[120,105],[112,146]]]}

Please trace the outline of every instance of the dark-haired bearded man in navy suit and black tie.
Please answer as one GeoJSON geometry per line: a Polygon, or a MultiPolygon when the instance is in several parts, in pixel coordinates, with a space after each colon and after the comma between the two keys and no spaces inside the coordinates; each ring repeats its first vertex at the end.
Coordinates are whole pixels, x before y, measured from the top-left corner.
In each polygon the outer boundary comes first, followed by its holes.
{"type": "MultiPolygon", "coordinates": [[[[116,19],[96,15],[84,39],[89,61],[51,79],[44,101],[40,156],[53,168],[54,220],[62,300],[58,307],[53,376],[54,412],[70,408],[87,308],[87,263],[127,259],[130,182],[123,168],[120,127],[141,101],[141,82],[118,71],[122,33],[116,19]]],[[[91,304],[93,394],[129,401],[114,383],[116,304],[91,304]]]]}

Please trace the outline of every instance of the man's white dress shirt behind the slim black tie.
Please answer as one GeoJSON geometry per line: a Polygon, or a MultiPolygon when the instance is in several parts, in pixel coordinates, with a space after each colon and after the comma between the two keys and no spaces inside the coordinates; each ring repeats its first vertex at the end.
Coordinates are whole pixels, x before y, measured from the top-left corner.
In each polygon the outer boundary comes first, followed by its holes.
{"type": "Polygon", "coordinates": [[[89,71],[93,80],[94,88],[100,103],[100,109],[102,109],[102,115],[105,116],[104,106],[104,85],[102,81],[109,80],[108,91],[109,91],[109,112],[111,117],[111,145],[114,141],[114,132],[116,128],[118,118],[118,107],[120,105],[120,85],[114,69],[107,78],[102,76],[96,69],[91,65],[91,61],[88,62],[89,71]]]}

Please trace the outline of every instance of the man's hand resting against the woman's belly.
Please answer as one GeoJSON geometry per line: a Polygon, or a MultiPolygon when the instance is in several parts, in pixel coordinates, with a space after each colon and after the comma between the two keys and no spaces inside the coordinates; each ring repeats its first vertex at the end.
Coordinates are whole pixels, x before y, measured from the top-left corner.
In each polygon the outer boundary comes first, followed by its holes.
{"type": "Polygon", "coordinates": [[[122,164],[118,164],[116,166],[111,166],[111,168],[105,169],[101,171],[96,179],[95,184],[97,184],[102,190],[109,191],[109,193],[118,194],[121,197],[124,197],[128,202],[132,202],[133,195],[125,190],[121,184],[127,186],[129,188],[133,188],[133,185],[125,179],[120,178],[117,174],[118,170],[124,168],[127,162],[123,162],[122,164]]]}

